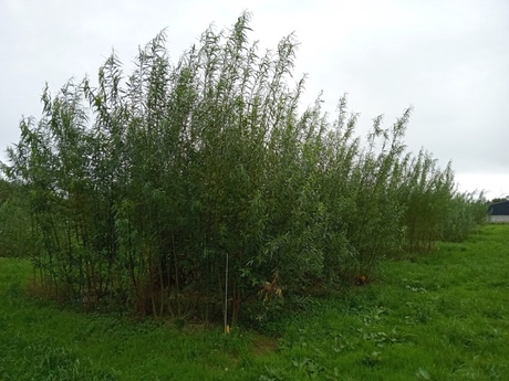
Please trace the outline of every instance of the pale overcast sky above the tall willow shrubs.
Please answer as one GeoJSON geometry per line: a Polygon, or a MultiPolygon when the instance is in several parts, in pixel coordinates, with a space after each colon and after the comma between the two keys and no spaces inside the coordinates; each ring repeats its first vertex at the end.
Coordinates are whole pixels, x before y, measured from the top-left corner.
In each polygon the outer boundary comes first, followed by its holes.
{"type": "Polygon", "coordinates": [[[304,103],[323,89],[333,114],[347,93],[360,134],[412,105],[409,150],[451,160],[461,191],[509,194],[507,0],[0,0],[0,159],[21,117],[39,119],[45,82],[54,94],[96,77],[112,49],[127,68],[163,29],[176,62],[209,24],[230,28],[245,10],[263,49],[295,33],[304,103]]]}

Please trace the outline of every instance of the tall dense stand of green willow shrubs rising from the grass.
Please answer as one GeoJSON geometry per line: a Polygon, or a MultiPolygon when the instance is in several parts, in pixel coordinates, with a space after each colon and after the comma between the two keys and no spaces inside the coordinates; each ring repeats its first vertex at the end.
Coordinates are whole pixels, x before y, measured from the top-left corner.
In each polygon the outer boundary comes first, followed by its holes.
{"type": "Polygon", "coordinates": [[[29,237],[19,253],[41,287],[156,316],[215,320],[228,307],[236,324],[484,221],[450,166],[406,151],[411,109],[387,129],[375,118],[366,139],[345,97],[332,121],[320,98],[299,113],[293,36],[260,54],[248,25],[242,14],[207,30],[176,64],[162,33],[128,76],[112,54],[97,86],[45,88],[43,117],[23,119],[8,149],[0,207],[20,219],[2,240],[29,237]]]}

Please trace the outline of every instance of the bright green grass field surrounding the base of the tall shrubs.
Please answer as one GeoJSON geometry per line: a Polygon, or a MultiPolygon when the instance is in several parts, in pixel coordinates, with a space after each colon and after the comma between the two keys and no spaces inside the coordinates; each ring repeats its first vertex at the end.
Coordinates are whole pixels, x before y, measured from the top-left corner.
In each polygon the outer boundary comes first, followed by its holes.
{"type": "Polygon", "coordinates": [[[509,225],[384,262],[364,287],[237,329],[80,314],[0,258],[0,380],[509,380],[509,225]]]}

